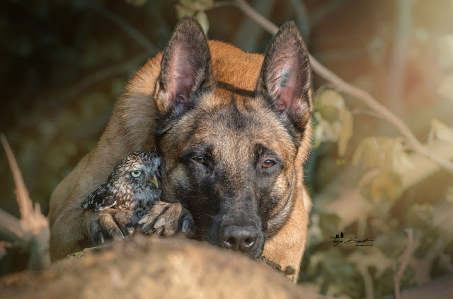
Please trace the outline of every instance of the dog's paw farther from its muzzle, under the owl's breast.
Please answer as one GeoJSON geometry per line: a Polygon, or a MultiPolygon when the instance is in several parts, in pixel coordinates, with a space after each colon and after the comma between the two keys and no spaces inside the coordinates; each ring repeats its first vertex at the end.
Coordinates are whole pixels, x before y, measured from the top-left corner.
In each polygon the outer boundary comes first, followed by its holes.
{"type": "Polygon", "coordinates": [[[88,228],[93,246],[103,244],[107,239],[121,241],[134,233],[138,219],[132,211],[107,209],[96,213],[98,218],[88,228]]]}

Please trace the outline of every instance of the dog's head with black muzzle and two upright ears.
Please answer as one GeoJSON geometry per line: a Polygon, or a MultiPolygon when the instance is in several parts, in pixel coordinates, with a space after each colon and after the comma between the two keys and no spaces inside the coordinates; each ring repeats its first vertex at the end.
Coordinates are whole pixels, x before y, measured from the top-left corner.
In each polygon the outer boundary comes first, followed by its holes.
{"type": "Polygon", "coordinates": [[[217,69],[236,67],[229,63],[212,65],[194,18],[178,23],[156,81],[156,137],[166,198],[190,210],[197,237],[256,258],[287,220],[302,177],[311,71],[294,23],[280,28],[262,65],[244,63],[258,79],[235,74],[239,79],[217,81],[217,69]],[[251,89],[235,87],[235,80],[250,81],[251,89]]]}

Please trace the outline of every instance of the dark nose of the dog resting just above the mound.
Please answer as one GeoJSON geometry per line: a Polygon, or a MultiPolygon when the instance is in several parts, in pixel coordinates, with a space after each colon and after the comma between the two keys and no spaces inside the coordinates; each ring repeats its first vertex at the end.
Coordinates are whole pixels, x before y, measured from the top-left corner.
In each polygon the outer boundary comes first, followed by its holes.
{"type": "Polygon", "coordinates": [[[229,225],[220,232],[220,243],[223,247],[238,250],[243,253],[251,252],[256,244],[258,230],[251,226],[229,225]]]}

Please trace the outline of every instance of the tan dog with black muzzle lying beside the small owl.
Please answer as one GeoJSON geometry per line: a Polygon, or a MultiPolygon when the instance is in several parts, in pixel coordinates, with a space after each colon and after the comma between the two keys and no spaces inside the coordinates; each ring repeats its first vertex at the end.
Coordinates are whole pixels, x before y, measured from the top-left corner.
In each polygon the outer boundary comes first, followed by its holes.
{"type": "Polygon", "coordinates": [[[81,201],[127,154],[156,148],[165,203],[147,222],[164,219],[161,235],[173,235],[191,216],[191,237],[266,256],[297,280],[311,209],[303,164],[312,93],[294,23],[280,28],[263,56],[208,41],[195,18],[181,19],[164,52],[125,88],[96,148],[52,193],[52,260],[132,233],[124,211],[95,213],[81,201]]]}

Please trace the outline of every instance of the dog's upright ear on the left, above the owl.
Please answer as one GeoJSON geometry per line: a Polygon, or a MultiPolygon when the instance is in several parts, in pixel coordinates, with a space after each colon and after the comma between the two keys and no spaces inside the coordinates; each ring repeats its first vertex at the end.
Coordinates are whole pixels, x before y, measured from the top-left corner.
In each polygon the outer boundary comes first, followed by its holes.
{"type": "Polygon", "coordinates": [[[182,18],[164,50],[154,98],[157,113],[166,117],[187,111],[195,93],[212,90],[211,55],[200,24],[182,18]]]}

